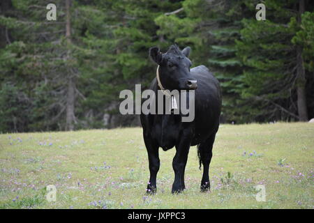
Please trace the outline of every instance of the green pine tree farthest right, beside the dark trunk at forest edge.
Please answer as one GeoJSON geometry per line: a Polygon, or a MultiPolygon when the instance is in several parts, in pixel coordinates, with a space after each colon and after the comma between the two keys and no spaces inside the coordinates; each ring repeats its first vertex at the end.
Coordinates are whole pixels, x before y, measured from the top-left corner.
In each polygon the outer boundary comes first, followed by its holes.
{"type": "MultiPolygon", "coordinates": [[[[307,77],[301,65],[301,50],[292,45],[299,29],[299,24],[293,22],[299,15],[299,1],[269,0],[265,5],[266,21],[242,21],[244,29],[237,41],[237,55],[246,66],[243,79],[246,89],[242,96],[255,106],[251,110],[255,121],[302,121],[306,118],[301,117],[298,104],[305,93],[300,98],[299,91],[300,86],[304,89],[307,77]]],[[[308,3],[307,8],[311,7],[308,3]]]]}

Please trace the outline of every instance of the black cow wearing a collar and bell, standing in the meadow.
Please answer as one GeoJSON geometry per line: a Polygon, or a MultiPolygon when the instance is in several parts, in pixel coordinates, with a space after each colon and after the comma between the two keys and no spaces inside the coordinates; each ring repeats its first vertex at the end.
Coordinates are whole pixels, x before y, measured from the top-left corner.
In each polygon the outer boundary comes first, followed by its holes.
{"type": "Polygon", "coordinates": [[[220,86],[218,80],[205,66],[190,69],[188,59],[190,47],[182,51],[172,45],[166,53],[159,52],[158,47],[149,49],[149,55],[158,64],[158,80],[151,82],[149,89],[156,95],[161,88],[170,91],[177,89],[195,89],[195,118],[192,122],[182,122],[181,114],[141,114],[143,137],[149,157],[150,178],[147,193],[156,192],[156,176],[160,166],[158,148],[167,151],[176,147],[172,167],[174,183],[172,193],[185,189],[184,171],[188,160],[190,146],[197,145],[200,167],[203,164],[203,176],[200,189],[210,189],[209,164],[212,148],[218,131],[221,107],[220,86]],[[158,83],[158,81],[160,83],[158,83]]]}

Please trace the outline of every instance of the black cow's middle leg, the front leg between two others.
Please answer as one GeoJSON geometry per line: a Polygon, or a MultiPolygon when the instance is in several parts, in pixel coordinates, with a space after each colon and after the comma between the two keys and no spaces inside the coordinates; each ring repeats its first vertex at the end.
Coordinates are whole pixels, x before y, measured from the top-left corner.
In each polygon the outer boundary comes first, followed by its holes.
{"type": "Polygon", "coordinates": [[[186,187],[184,185],[184,171],[188,161],[188,151],[190,150],[190,134],[183,134],[179,144],[176,146],[177,153],[174,155],[172,167],[174,170],[174,183],[172,193],[182,192],[186,187]]]}

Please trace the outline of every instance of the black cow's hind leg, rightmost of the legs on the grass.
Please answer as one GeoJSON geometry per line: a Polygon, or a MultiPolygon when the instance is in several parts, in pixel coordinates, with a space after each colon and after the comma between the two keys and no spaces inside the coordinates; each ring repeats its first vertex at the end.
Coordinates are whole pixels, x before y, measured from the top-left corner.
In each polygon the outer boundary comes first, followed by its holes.
{"type": "Polygon", "coordinates": [[[206,192],[210,190],[209,183],[209,164],[211,163],[211,157],[213,155],[212,148],[215,141],[216,132],[204,141],[202,144],[197,146],[197,154],[200,159],[200,166],[203,164],[203,176],[201,181],[200,190],[206,192]]]}

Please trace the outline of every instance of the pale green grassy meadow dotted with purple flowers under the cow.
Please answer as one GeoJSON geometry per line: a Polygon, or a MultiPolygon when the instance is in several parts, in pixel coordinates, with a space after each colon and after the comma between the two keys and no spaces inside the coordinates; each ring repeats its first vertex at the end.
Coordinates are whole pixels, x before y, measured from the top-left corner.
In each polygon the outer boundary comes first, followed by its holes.
{"type": "Polygon", "coordinates": [[[192,147],[187,189],[171,194],[174,153],[160,150],[158,192],[146,196],[141,128],[0,134],[0,208],[314,208],[311,123],[220,125],[207,193],[192,147]],[[47,185],[57,201],[46,200],[47,185]]]}

